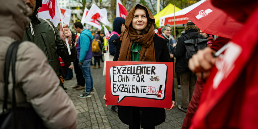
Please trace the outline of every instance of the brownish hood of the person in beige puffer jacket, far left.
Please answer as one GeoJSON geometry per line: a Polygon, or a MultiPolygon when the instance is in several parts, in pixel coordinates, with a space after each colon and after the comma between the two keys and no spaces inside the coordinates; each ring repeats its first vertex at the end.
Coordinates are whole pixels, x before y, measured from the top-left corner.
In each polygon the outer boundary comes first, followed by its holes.
{"type": "Polygon", "coordinates": [[[0,4],[0,36],[22,40],[25,29],[30,23],[30,8],[25,0],[8,0],[0,4]]]}

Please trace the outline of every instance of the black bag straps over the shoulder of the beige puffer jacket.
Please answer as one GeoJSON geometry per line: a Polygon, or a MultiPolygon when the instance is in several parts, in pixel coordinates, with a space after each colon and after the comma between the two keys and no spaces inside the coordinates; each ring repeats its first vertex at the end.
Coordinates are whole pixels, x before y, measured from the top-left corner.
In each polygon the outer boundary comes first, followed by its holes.
{"type": "MultiPolygon", "coordinates": [[[[7,110],[7,96],[8,96],[8,78],[9,78],[9,70],[10,70],[10,64],[12,67],[12,81],[13,81],[13,89],[12,89],[12,110],[14,111],[15,116],[15,110],[17,110],[16,106],[16,99],[15,99],[15,62],[16,62],[16,54],[17,50],[19,47],[19,44],[22,43],[22,41],[16,41],[13,42],[9,48],[7,49],[6,52],[6,57],[5,57],[5,66],[4,66],[4,80],[5,80],[5,85],[4,85],[4,103],[3,103],[3,111],[7,110]]],[[[14,123],[16,123],[15,117],[13,118],[14,123]]],[[[16,126],[16,124],[14,124],[16,126]]]]}

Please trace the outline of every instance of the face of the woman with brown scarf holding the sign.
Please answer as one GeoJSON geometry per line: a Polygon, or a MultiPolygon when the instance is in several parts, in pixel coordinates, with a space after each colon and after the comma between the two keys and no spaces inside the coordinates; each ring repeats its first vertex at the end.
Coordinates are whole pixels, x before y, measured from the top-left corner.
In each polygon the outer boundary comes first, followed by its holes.
{"type": "Polygon", "coordinates": [[[137,34],[140,34],[142,30],[147,26],[148,19],[146,17],[145,10],[136,9],[133,14],[132,26],[136,30],[137,34]]]}

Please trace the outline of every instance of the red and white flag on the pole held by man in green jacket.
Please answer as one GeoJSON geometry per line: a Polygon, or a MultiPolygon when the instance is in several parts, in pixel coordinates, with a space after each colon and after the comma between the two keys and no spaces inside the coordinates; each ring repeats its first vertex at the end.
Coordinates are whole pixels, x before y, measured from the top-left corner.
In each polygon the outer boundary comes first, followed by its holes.
{"type": "Polygon", "coordinates": [[[59,12],[57,10],[57,1],[43,0],[42,7],[40,7],[38,11],[38,17],[42,19],[50,19],[54,26],[57,27],[60,21],[59,12]]]}

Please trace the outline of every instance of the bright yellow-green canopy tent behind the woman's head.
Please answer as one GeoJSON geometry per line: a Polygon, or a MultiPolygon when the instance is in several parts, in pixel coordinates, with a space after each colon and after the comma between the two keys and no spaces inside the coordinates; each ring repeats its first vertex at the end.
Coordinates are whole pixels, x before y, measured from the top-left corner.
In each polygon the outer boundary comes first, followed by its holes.
{"type": "MultiPolygon", "coordinates": [[[[175,6],[175,11],[179,11],[179,10],[181,9],[175,6]]],[[[155,24],[157,25],[157,27],[159,27],[159,18],[165,15],[169,15],[171,13],[174,13],[174,5],[170,3],[168,6],[163,8],[163,10],[161,10],[158,14],[154,15],[155,24]]]]}

